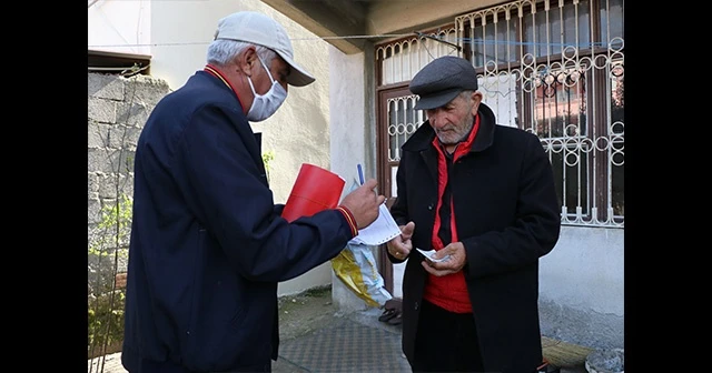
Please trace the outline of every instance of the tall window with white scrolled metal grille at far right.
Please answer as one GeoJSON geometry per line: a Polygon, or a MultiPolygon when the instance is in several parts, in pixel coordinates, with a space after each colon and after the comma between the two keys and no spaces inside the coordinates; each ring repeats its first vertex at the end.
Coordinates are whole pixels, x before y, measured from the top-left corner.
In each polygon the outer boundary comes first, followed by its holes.
{"type": "Polygon", "coordinates": [[[515,1],[457,17],[497,121],[546,149],[562,222],[623,226],[623,0],[515,1]]]}

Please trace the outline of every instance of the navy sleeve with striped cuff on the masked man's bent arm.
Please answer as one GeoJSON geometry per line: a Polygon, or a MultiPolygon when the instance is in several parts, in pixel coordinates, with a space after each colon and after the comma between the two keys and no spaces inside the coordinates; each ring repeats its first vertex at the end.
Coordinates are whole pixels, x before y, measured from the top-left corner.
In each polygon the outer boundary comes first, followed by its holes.
{"type": "Polygon", "coordinates": [[[230,110],[199,109],[177,141],[172,171],[200,223],[253,281],[286,281],[336,256],[352,239],[345,216],[326,210],[293,223],[283,219],[284,205],[274,203],[248,151],[249,123],[230,110]]]}

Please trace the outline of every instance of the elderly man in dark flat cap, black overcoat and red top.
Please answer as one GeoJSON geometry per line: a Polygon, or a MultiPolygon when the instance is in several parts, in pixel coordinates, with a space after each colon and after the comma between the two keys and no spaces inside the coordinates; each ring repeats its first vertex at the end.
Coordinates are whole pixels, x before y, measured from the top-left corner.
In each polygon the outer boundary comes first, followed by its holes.
{"type": "Polygon", "coordinates": [[[433,60],[409,88],[427,121],[402,147],[390,209],[388,258],[409,259],[403,351],[414,372],[538,372],[538,259],[561,224],[546,153],[496,125],[465,59],[433,60]]]}

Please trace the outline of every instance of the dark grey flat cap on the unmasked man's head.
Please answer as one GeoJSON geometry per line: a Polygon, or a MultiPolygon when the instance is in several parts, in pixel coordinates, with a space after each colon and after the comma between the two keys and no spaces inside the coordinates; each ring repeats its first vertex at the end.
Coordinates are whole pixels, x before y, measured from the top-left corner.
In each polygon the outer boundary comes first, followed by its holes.
{"type": "Polygon", "coordinates": [[[411,92],[419,95],[416,110],[439,108],[463,90],[477,90],[477,73],[469,61],[445,56],[426,64],[411,80],[411,92]]]}

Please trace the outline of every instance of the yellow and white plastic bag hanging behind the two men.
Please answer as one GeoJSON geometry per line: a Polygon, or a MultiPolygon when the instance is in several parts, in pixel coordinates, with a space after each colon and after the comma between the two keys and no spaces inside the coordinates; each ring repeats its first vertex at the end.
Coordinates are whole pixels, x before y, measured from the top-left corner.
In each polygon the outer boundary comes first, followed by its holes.
{"type": "Polygon", "coordinates": [[[332,259],[332,268],[336,276],[369,306],[382,308],[393,298],[384,288],[376,259],[368,245],[349,242],[332,259]]]}

